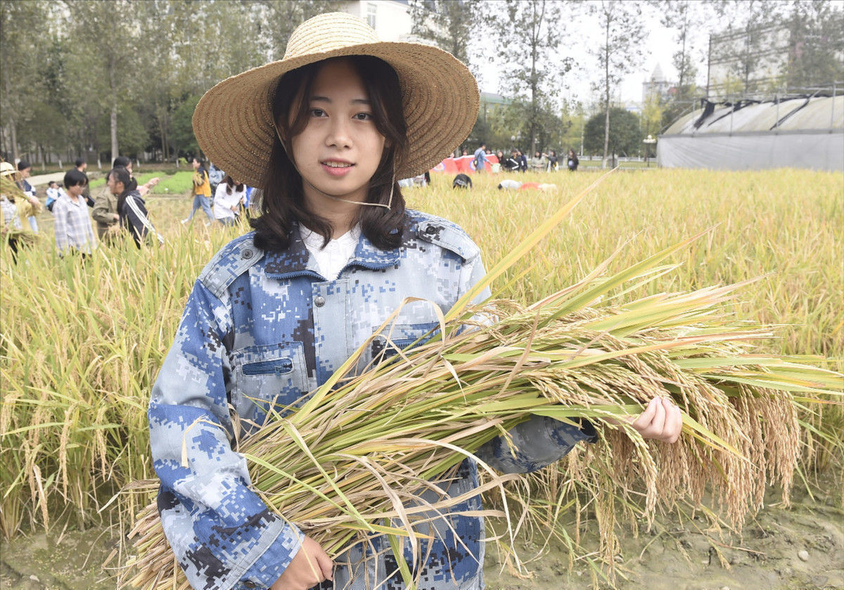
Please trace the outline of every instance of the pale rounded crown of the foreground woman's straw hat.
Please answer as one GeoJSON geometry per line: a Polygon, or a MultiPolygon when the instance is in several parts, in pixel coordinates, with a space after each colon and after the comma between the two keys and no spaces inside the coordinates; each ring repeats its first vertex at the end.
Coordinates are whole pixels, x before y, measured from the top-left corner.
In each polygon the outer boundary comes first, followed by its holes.
{"type": "Polygon", "coordinates": [[[365,20],[345,13],[327,13],[296,27],[287,41],[284,59],[377,43],[378,35],[365,20]]]}

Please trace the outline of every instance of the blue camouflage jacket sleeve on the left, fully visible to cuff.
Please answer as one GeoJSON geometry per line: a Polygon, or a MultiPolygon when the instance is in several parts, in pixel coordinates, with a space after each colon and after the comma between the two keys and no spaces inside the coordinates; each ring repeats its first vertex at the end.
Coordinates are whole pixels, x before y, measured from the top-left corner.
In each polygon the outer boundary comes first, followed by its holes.
{"type": "Polygon", "coordinates": [[[298,528],[250,489],[230,445],[230,305],[197,281],[149,403],[165,534],[192,587],[266,588],[300,548],[298,528]]]}

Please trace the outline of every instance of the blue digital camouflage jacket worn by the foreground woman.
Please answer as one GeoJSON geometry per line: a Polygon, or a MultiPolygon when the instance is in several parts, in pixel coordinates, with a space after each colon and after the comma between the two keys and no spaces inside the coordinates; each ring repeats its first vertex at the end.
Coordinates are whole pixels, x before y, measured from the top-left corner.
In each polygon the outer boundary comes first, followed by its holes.
{"type": "MultiPolygon", "coordinates": [[[[255,398],[286,405],[321,385],[405,297],[433,301],[445,312],[483,277],[478,247],[457,225],[414,211],[407,217],[400,247],[381,251],[361,235],[335,280],[317,271],[298,230],[279,253],[262,252],[252,234],[243,235],[197,279],[149,403],[161,521],[197,590],[267,588],[304,539],[251,490],[246,460],[230,446],[230,408],[260,423],[265,409],[255,398]]],[[[435,325],[431,304],[416,301],[400,311],[391,339],[412,342],[435,325]]],[[[377,344],[376,338],[362,362],[377,344]]],[[[515,455],[496,439],[480,456],[505,472],[531,471],[593,436],[586,430],[534,419],[511,432],[515,455]]],[[[467,460],[446,491],[471,496],[477,484],[477,467],[467,460]]],[[[475,495],[453,510],[480,509],[475,495]]],[[[430,526],[436,541],[414,571],[420,590],[484,587],[482,518],[444,514],[430,526]]],[[[386,539],[354,546],[335,562],[333,587],[403,588],[386,539]]]]}

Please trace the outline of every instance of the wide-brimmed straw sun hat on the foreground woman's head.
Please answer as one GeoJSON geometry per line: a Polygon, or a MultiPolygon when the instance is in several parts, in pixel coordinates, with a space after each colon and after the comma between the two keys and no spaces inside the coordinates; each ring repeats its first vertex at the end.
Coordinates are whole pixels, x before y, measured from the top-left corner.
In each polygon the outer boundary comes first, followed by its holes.
{"type": "Polygon", "coordinates": [[[279,78],[308,63],[355,55],[379,57],[398,74],[408,150],[397,162],[397,178],[430,170],[468,137],[479,94],[462,62],[433,46],[378,41],[365,21],[328,13],[293,31],[281,61],[227,78],[203,95],[193,113],[200,148],[236,180],[263,188],[276,137],[272,102],[279,78]]]}

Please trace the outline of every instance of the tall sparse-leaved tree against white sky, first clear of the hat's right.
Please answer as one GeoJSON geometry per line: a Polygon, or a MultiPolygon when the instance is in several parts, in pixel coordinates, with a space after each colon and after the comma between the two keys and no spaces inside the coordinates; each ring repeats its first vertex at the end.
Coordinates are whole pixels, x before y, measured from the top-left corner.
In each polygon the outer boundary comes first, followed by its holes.
{"type": "Polygon", "coordinates": [[[571,57],[560,56],[565,35],[560,0],[507,0],[504,10],[490,16],[499,46],[507,47],[507,76],[502,94],[513,97],[513,109],[524,121],[523,137],[537,149],[544,126],[559,123],[556,99],[562,77],[571,69],[571,57]]]}

